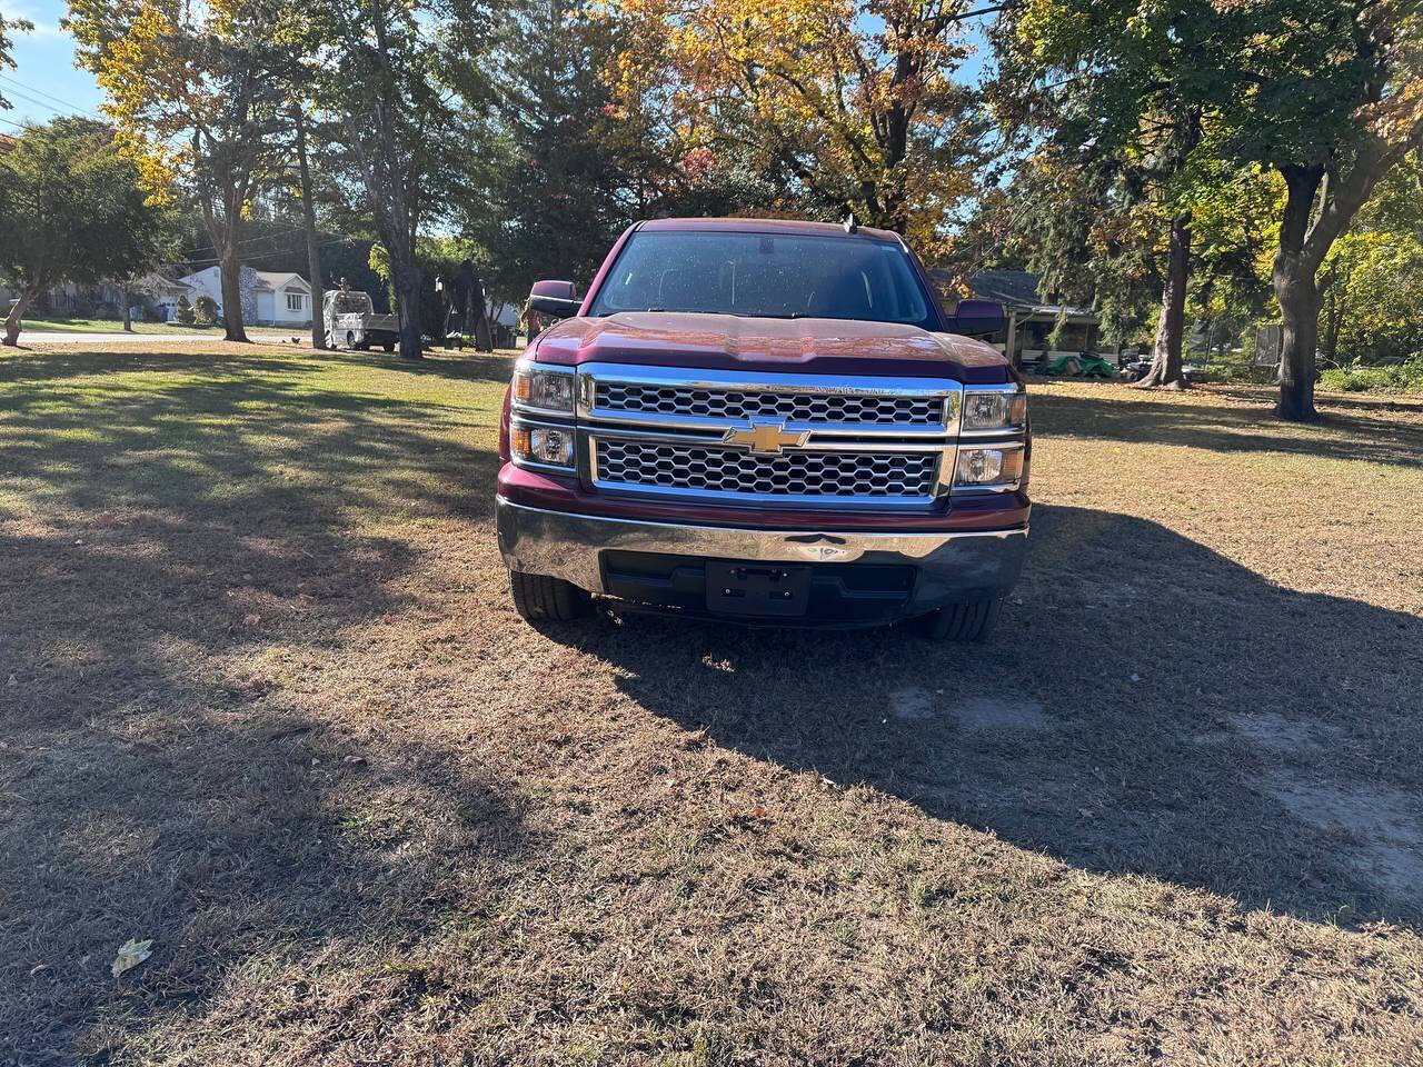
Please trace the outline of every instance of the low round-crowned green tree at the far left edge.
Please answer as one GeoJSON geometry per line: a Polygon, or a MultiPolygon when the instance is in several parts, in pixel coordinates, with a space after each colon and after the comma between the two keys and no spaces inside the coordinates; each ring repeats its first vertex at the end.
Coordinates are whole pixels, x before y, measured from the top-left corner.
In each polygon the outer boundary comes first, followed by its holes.
{"type": "Polygon", "coordinates": [[[46,289],[128,279],[157,266],[162,219],[120,155],[112,131],[90,120],[28,127],[0,155],[0,277],[20,299],[4,324],[20,322],[46,289]]]}

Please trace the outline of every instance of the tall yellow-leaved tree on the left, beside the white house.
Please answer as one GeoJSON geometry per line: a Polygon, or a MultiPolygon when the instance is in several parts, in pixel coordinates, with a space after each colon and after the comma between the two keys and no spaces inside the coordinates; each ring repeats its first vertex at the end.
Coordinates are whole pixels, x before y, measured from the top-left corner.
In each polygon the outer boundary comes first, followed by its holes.
{"type": "Polygon", "coordinates": [[[152,193],[181,185],[198,203],[221,267],[226,337],[245,341],[242,223],[279,161],[283,114],[270,10],[246,0],[70,0],[64,26],[152,193]]]}

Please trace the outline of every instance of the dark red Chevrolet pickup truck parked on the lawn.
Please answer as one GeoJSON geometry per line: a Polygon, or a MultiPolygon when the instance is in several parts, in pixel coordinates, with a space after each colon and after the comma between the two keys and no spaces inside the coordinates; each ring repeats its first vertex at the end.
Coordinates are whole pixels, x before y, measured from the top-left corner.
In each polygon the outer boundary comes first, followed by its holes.
{"type": "Polygon", "coordinates": [[[887,230],[758,219],[629,228],[505,398],[514,606],[589,593],[771,625],[915,617],[983,640],[1027,543],[1023,384],[887,230]]]}

